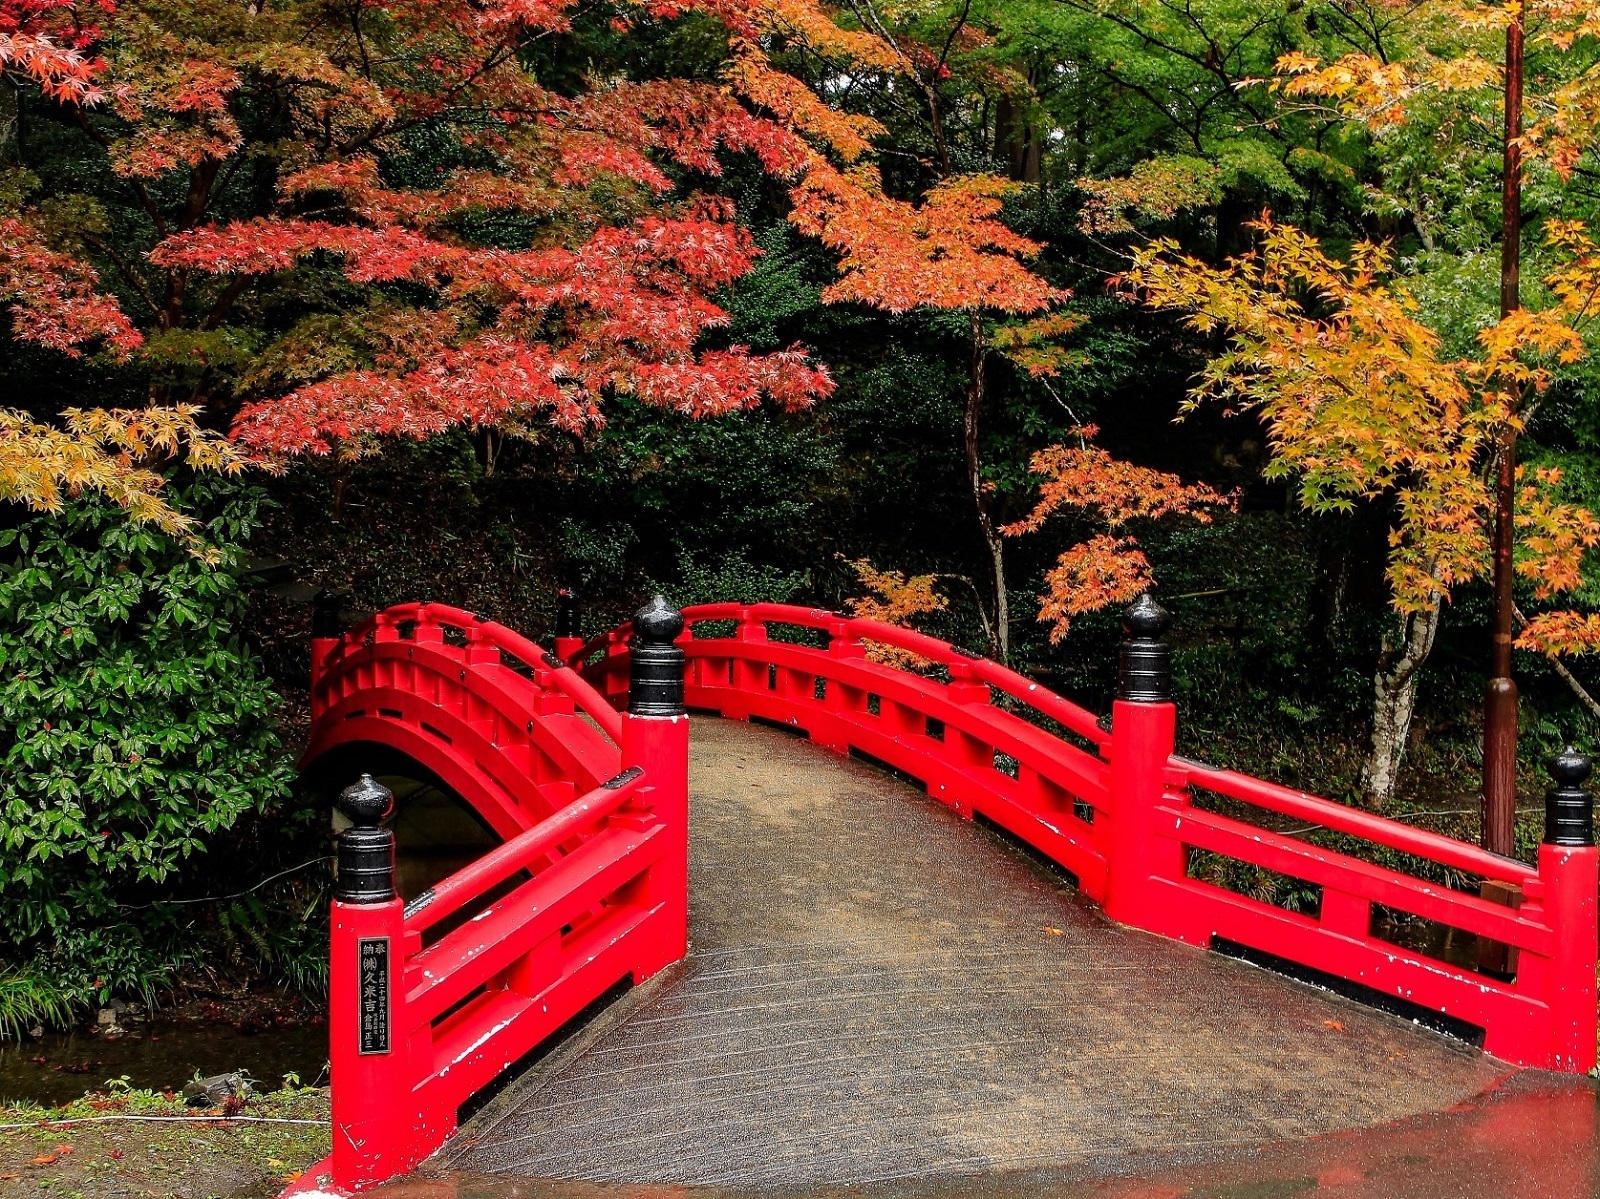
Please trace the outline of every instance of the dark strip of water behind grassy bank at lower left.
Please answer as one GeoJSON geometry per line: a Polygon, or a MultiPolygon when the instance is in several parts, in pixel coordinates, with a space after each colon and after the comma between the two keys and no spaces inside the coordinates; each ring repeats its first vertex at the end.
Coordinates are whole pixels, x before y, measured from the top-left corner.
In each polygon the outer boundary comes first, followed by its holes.
{"type": "Polygon", "coordinates": [[[110,1039],[93,1033],[48,1034],[0,1042],[0,1100],[66,1103],[107,1079],[128,1077],[133,1087],[178,1090],[194,1077],[243,1069],[261,1090],[277,1090],[293,1073],[310,1085],[328,1065],[328,1026],[286,1025],[242,1033],[226,1023],[162,1025],[110,1039]]]}

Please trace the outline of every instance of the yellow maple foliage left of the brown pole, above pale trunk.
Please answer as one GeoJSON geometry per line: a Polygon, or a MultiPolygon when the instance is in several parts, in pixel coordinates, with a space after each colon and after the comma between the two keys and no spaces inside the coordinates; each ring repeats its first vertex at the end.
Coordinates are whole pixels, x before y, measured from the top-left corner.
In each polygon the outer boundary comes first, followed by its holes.
{"type": "Polygon", "coordinates": [[[1488,493],[1480,455],[1507,418],[1483,363],[1440,354],[1389,251],[1355,243],[1347,259],[1264,216],[1259,248],[1211,267],[1166,240],[1136,250],[1122,285],[1187,314],[1227,349],[1200,371],[1189,407],[1261,413],[1269,477],[1299,480],[1310,511],[1347,511],[1394,495],[1389,560],[1395,608],[1419,612],[1486,565],[1488,493]]]}

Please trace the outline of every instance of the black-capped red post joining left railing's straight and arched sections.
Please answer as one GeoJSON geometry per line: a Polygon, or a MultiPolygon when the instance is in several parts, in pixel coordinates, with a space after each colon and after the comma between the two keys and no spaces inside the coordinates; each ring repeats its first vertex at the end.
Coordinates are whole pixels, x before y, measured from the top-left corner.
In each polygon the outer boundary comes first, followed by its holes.
{"type": "Polygon", "coordinates": [[[690,922],[690,717],[683,701],[688,656],[675,644],[683,613],[656,595],[634,616],[622,767],[645,772],[643,800],[666,824],[666,852],[651,868],[648,895],[661,904],[666,935],[646,946],[635,981],[688,952],[690,922]]]}

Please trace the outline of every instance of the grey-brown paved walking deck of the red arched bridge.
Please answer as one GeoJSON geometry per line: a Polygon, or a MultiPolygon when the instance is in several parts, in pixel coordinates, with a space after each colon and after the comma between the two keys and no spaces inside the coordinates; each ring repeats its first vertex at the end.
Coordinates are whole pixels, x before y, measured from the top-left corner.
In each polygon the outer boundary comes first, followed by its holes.
{"type": "Polygon", "coordinates": [[[1366,1127],[1507,1073],[1118,928],[870,767],[693,730],[690,960],[438,1165],[741,1189],[1058,1167],[1366,1127]]]}

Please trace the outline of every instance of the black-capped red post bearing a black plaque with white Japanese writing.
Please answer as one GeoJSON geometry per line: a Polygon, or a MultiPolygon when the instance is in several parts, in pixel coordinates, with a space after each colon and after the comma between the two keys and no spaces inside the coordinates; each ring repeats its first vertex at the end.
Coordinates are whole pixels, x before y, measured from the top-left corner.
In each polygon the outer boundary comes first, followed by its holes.
{"type": "Polygon", "coordinates": [[[395,895],[395,837],[379,828],[389,788],[362,775],[339,792],[350,828],[339,834],[328,962],[328,1060],[333,1090],[333,1181],[357,1189],[416,1162],[400,989],[403,914],[395,895]]]}

